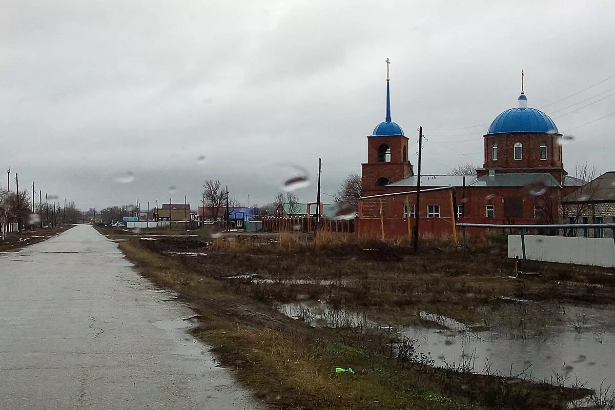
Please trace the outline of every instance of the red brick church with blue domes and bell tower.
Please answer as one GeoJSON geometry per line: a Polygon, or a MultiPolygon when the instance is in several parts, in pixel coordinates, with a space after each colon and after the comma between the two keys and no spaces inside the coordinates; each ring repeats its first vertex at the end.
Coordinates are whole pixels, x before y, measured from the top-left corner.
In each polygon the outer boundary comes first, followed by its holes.
{"type": "Polygon", "coordinates": [[[518,106],[499,114],[483,135],[483,167],[467,176],[422,175],[417,209],[417,176],[408,160],[408,137],[391,120],[387,73],[386,118],[367,136],[357,235],[410,235],[417,212],[421,235],[451,235],[454,218],[467,223],[558,223],[561,197],[581,181],[564,170],[558,143],[562,135],[553,120],[528,107],[523,87],[517,100],[518,106]]]}

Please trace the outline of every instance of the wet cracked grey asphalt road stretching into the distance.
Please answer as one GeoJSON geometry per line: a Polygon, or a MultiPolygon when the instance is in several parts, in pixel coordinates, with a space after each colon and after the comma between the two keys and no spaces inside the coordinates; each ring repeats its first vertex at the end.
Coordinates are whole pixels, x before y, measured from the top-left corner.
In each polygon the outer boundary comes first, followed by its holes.
{"type": "Polygon", "coordinates": [[[93,227],[0,254],[0,409],[256,409],[93,227]]]}

